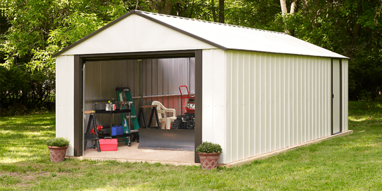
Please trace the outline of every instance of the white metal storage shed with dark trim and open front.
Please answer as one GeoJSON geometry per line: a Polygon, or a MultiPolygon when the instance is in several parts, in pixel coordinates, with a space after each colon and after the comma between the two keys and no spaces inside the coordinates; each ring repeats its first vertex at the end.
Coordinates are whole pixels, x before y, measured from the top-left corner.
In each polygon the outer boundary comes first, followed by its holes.
{"type": "Polygon", "coordinates": [[[284,33],[131,10],[54,57],[67,155],[83,155],[92,61],[195,58],[195,146],[219,143],[220,163],[348,131],[348,58],[284,33]]]}

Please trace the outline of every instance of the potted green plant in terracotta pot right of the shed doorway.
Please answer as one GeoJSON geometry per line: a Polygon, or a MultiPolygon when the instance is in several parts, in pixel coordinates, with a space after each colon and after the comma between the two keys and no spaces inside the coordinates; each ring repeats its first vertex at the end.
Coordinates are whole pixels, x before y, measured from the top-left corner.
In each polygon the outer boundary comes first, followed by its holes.
{"type": "Polygon", "coordinates": [[[223,149],[219,144],[202,142],[202,144],[196,148],[196,152],[199,154],[202,169],[211,170],[216,168],[222,151],[223,149]]]}

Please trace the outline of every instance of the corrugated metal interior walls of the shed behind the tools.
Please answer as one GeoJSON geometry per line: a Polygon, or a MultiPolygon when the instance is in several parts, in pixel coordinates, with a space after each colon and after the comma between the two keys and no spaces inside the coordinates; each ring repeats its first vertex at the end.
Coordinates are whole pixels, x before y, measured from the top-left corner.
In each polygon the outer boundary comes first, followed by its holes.
{"type": "MultiPolygon", "coordinates": [[[[179,115],[181,105],[178,86],[187,85],[192,92],[195,92],[195,82],[190,86],[192,84],[190,79],[195,79],[195,58],[87,62],[84,86],[85,111],[93,110],[95,101],[91,100],[116,99],[116,87],[129,87],[133,97],[141,97],[141,91],[143,96],[157,96],[143,100],[134,98],[137,114],[139,106],[149,105],[152,101],[158,100],[168,108],[175,108],[176,115],[179,115]],[[176,95],[161,96],[174,94],[176,95]]],[[[105,103],[99,102],[97,109],[104,109],[105,103]]],[[[145,110],[147,120],[150,118],[150,112],[145,110]]],[[[119,115],[114,115],[114,118],[116,124],[120,124],[119,115]]],[[[97,123],[102,125],[109,125],[111,122],[110,115],[96,115],[96,119],[97,123]]],[[[88,120],[89,114],[86,115],[85,128],[88,120]]]]}

